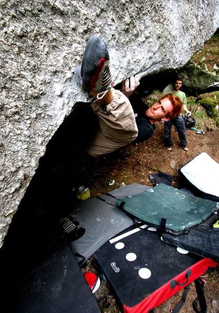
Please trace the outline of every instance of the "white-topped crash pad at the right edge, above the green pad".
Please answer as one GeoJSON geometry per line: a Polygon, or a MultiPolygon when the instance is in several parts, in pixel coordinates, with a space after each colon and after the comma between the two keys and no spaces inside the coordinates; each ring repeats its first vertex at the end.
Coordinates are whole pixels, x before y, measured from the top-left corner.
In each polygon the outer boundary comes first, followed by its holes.
{"type": "Polygon", "coordinates": [[[219,164],[207,153],[202,152],[181,167],[179,174],[194,188],[196,195],[219,201],[219,164]]]}

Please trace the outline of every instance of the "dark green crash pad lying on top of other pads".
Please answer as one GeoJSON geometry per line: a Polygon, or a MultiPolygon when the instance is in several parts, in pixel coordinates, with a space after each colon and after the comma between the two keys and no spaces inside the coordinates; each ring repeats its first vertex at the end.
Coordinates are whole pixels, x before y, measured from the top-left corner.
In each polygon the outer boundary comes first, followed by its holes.
{"type": "Polygon", "coordinates": [[[218,210],[219,204],[159,184],[138,195],[118,200],[117,205],[132,218],[180,234],[206,221],[218,210]]]}

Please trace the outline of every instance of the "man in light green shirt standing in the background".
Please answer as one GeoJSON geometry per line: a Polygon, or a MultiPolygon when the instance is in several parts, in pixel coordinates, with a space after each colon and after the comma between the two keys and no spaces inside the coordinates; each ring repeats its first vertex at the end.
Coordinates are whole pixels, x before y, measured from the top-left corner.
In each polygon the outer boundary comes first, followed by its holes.
{"type": "MultiPolygon", "coordinates": [[[[183,101],[182,109],[188,114],[188,116],[190,116],[191,112],[188,111],[187,109],[186,96],[185,96],[185,93],[180,90],[181,87],[182,87],[182,79],[178,77],[178,79],[175,81],[175,88],[171,90],[170,93],[182,99],[183,101]]],[[[171,140],[172,125],[174,125],[177,129],[181,147],[183,148],[184,151],[188,151],[185,123],[183,121],[182,115],[179,115],[173,119],[170,119],[169,121],[165,121],[165,144],[167,146],[167,149],[169,151],[172,150],[172,145],[173,145],[173,142],[171,140]]]]}

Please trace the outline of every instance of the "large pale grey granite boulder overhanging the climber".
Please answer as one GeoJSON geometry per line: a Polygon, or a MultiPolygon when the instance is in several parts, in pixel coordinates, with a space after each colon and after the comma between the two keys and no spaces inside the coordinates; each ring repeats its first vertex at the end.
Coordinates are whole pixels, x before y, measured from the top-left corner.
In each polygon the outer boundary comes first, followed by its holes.
{"type": "Polygon", "coordinates": [[[182,67],[218,27],[218,0],[0,0],[0,247],[47,143],[88,101],[73,71],[90,36],[116,85],[182,67]]]}

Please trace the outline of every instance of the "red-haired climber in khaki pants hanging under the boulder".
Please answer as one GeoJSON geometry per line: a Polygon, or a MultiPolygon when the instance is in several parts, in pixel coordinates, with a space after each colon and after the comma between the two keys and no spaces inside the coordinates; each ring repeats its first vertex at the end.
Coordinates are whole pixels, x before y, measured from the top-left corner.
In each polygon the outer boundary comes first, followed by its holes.
{"type": "Polygon", "coordinates": [[[81,67],[74,71],[76,81],[93,96],[92,109],[99,117],[100,129],[87,147],[93,156],[111,153],[132,142],[141,142],[154,133],[156,121],[168,121],[182,110],[179,97],[168,94],[150,108],[135,93],[139,75],[112,87],[110,55],[106,44],[96,35],[90,37],[81,67]]]}

